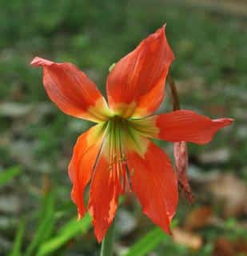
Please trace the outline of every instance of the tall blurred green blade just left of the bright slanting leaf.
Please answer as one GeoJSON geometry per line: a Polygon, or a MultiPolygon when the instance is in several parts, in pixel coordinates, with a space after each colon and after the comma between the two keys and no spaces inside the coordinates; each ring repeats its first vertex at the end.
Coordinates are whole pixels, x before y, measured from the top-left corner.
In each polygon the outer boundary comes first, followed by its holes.
{"type": "Polygon", "coordinates": [[[54,194],[52,192],[46,194],[45,198],[43,198],[38,229],[35,231],[34,238],[26,249],[26,256],[34,255],[34,251],[37,251],[38,246],[50,237],[55,224],[54,202],[54,194]]]}

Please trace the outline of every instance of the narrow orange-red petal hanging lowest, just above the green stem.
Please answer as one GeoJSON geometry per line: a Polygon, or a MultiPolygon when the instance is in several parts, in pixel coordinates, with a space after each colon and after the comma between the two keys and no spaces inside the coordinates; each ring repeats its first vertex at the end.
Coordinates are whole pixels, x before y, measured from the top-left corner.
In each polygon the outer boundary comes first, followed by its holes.
{"type": "Polygon", "coordinates": [[[98,158],[90,186],[89,210],[93,217],[94,234],[98,242],[102,242],[106,231],[114,220],[118,207],[118,196],[122,192],[119,176],[110,164],[110,155],[106,144],[98,158]]]}

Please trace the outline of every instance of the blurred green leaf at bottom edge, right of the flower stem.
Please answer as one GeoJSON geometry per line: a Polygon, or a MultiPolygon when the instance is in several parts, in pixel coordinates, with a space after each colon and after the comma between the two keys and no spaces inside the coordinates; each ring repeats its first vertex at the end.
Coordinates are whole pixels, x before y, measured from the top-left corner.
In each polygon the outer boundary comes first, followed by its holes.
{"type": "Polygon", "coordinates": [[[129,248],[129,250],[123,254],[124,256],[142,256],[148,254],[153,250],[159,243],[168,239],[168,235],[159,228],[154,228],[145,234],[138,242],[129,248]]]}

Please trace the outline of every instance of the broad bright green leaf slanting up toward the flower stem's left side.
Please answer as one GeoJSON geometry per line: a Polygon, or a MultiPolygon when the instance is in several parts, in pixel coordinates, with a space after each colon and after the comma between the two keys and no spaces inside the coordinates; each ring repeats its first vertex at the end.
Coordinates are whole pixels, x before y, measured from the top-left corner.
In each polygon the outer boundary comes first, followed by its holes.
{"type": "Polygon", "coordinates": [[[57,236],[44,242],[38,250],[38,256],[50,255],[70,241],[71,238],[76,237],[78,234],[85,234],[90,228],[91,218],[86,214],[81,221],[76,218],[71,219],[66,225],[58,231],[57,236]]]}

